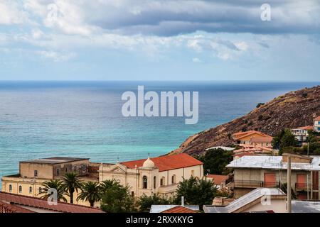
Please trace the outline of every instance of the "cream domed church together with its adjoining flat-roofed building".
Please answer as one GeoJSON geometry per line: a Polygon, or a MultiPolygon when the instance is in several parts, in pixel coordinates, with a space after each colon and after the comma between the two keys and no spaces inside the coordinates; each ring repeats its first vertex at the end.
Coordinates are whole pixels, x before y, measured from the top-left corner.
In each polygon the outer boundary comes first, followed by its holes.
{"type": "MultiPolygon", "coordinates": [[[[203,177],[203,163],[186,154],[134,160],[117,164],[89,162],[87,158],[49,157],[22,161],[18,175],[2,177],[2,192],[25,196],[41,197],[41,184],[50,179],[61,179],[67,172],[76,172],[83,182],[102,182],[116,179],[120,184],[129,185],[132,196],[153,193],[171,196],[178,182],[191,176],[203,177]]],[[[74,204],[90,206],[87,201],[74,204]]],[[[70,198],[66,196],[70,201],[70,198]]],[[[97,206],[99,204],[96,204],[97,206]]]]}

